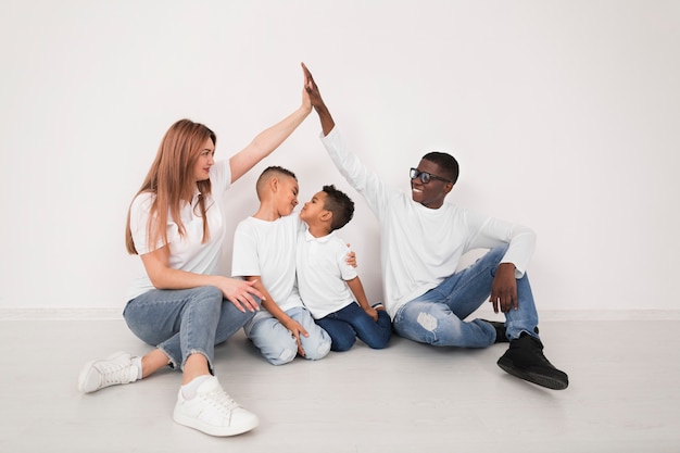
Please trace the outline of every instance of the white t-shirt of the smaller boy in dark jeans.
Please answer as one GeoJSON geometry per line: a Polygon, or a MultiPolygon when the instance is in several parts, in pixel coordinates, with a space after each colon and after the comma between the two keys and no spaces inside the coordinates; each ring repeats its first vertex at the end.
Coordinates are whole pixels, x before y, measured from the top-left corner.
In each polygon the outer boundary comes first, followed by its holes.
{"type": "Polygon", "coordinates": [[[337,312],[354,302],[347,280],[356,269],[347,264],[347,243],[335,235],[315,238],[308,228],[298,237],[298,287],[304,306],[315,319],[337,312]]]}

